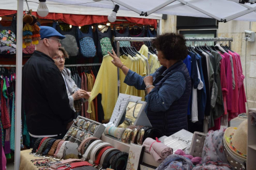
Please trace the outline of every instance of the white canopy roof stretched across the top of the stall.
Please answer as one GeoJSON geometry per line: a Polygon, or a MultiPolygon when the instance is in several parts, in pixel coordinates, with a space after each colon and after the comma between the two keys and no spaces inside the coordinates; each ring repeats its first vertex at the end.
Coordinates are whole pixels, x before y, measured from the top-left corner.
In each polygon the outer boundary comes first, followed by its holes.
{"type": "MultiPolygon", "coordinates": [[[[238,4],[228,0],[105,0],[99,2],[93,0],[48,0],[49,4],[53,2],[79,4],[79,6],[100,7],[102,9],[113,9],[114,4],[119,4],[121,10],[137,12],[137,17],[140,17],[139,14],[143,12],[150,15],[158,13],[190,17],[211,17],[219,21],[226,20],[227,22],[229,20],[256,21],[256,12],[254,12],[256,4],[238,4]]],[[[121,12],[120,14],[118,12],[117,15],[121,15],[121,12]]]]}

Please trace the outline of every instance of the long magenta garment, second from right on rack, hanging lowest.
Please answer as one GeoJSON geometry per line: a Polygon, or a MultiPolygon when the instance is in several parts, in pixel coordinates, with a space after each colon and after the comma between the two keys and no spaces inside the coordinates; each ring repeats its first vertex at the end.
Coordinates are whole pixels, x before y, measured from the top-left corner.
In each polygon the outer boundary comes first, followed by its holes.
{"type": "Polygon", "coordinates": [[[238,79],[237,79],[237,65],[236,65],[236,55],[233,52],[229,51],[229,54],[232,55],[233,59],[233,67],[234,67],[234,79],[236,87],[233,89],[233,97],[232,97],[232,109],[230,114],[228,115],[229,121],[233,118],[236,118],[238,115],[238,79]]]}

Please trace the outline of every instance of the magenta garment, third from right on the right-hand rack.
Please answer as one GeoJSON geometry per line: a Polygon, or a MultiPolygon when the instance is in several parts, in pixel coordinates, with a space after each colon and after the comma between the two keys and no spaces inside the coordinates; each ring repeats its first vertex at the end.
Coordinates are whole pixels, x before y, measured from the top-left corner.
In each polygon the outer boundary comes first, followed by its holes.
{"type": "Polygon", "coordinates": [[[229,54],[224,53],[224,68],[226,73],[226,84],[228,89],[228,94],[226,95],[226,102],[227,102],[227,110],[230,111],[232,108],[232,97],[233,97],[233,79],[232,79],[232,68],[231,68],[231,62],[229,60],[229,54]]]}

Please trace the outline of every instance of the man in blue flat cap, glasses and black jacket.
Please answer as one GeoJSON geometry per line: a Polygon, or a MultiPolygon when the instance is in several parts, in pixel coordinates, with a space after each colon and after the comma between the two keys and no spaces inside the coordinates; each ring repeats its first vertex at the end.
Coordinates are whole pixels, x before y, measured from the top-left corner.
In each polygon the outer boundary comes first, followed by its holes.
{"type": "Polygon", "coordinates": [[[62,139],[74,119],[66,85],[53,57],[59,54],[65,36],[49,26],[40,26],[41,40],[25,63],[22,102],[27,118],[30,147],[38,137],[62,139]]]}

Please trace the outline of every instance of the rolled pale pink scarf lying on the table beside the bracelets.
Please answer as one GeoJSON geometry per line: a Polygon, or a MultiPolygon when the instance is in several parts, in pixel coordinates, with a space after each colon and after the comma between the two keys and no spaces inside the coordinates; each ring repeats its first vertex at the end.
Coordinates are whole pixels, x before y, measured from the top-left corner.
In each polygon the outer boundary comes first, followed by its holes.
{"type": "Polygon", "coordinates": [[[147,139],[144,140],[143,146],[145,147],[145,152],[150,153],[150,155],[153,155],[156,162],[161,163],[167,156],[173,154],[173,149],[168,147],[167,145],[164,145],[161,142],[157,142],[154,139],[151,139],[150,137],[147,137],[147,139]]]}

